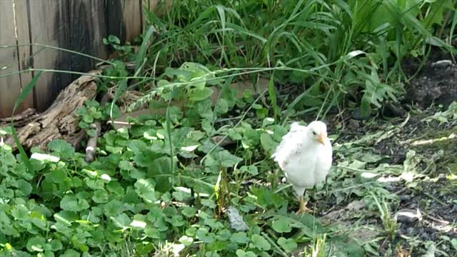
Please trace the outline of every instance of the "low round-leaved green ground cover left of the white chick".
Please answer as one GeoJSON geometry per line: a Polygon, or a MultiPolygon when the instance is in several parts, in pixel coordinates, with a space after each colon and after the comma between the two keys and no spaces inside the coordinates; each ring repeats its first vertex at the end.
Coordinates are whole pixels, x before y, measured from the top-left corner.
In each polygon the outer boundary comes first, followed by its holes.
{"type": "MultiPolygon", "coordinates": [[[[194,104],[208,105],[208,99],[194,104]]],[[[89,101],[78,111],[83,121],[91,122],[84,115],[99,118],[101,114],[91,109],[95,106],[89,101]]],[[[193,124],[185,122],[181,109],[170,108],[168,117],[141,121],[129,131],[108,131],[101,138],[98,159],[90,164],[69,143],[56,140],[47,152],[33,150],[31,172],[3,144],[3,253],[145,256],[154,249],[165,251],[168,241],[181,247],[181,253],[199,249],[198,256],[287,256],[298,242],[312,241],[328,230],[312,216],[291,214],[286,208],[289,199],[273,193],[275,188],[251,185],[246,191],[241,185],[268,173],[266,149],[277,143],[285,128],[246,121],[224,126],[217,134],[243,146],[231,152],[212,142],[216,131],[205,127],[224,111],[196,108],[212,115],[202,111],[199,123],[193,124]],[[262,143],[266,135],[270,143],[262,143]],[[204,161],[198,164],[201,157],[204,161]],[[248,231],[230,228],[221,214],[229,205],[237,206],[248,231]],[[258,214],[263,211],[266,214],[258,214]],[[293,236],[293,231],[301,233],[293,236]]]]}

